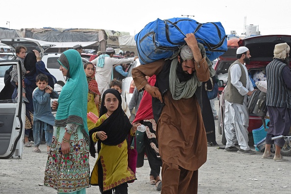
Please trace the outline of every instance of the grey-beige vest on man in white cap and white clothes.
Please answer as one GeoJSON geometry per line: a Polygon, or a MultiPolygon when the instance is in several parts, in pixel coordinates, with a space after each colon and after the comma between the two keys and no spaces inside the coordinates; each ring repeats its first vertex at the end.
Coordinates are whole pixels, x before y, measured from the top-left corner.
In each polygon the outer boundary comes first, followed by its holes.
{"type": "Polygon", "coordinates": [[[224,97],[224,99],[226,99],[229,102],[243,104],[244,96],[242,96],[239,93],[238,89],[231,84],[230,68],[234,64],[239,64],[240,65],[241,70],[242,70],[242,76],[240,78],[240,82],[242,82],[243,87],[246,86],[246,74],[245,74],[244,68],[242,67],[241,62],[239,60],[236,60],[233,64],[231,64],[231,66],[228,69],[227,87],[226,87],[226,89],[224,91],[223,97],[224,97]]]}

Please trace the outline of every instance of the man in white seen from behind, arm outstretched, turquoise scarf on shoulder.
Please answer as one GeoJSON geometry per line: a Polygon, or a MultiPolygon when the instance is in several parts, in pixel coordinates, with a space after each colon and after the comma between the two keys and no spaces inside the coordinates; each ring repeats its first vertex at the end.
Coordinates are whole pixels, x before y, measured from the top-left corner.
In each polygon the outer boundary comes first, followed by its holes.
{"type": "Polygon", "coordinates": [[[115,50],[111,47],[106,49],[106,54],[101,54],[96,59],[92,60],[91,63],[96,65],[96,81],[98,84],[98,90],[100,96],[103,92],[109,89],[110,81],[113,79],[113,65],[122,63],[131,63],[135,61],[138,57],[128,58],[128,59],[118,59],[114,58],[115,50]]]}

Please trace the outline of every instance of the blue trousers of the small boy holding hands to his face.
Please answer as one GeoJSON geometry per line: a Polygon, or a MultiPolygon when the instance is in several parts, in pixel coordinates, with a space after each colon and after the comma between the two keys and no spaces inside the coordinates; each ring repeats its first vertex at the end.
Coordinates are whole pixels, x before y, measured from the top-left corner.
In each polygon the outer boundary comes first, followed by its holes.
{"type": "Polygon", "coordinates": [[[53,126],[50,124],[34,119],[33,121],[33,140],[34,146],[38,147],[43,139],[43,132],[45,131],[47,145],[51,145],[53,126]]]}

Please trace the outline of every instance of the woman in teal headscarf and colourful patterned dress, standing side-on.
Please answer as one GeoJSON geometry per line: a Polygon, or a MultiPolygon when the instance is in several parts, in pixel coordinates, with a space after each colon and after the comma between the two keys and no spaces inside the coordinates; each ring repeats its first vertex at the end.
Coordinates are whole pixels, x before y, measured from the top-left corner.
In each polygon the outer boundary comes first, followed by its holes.
{"type": "Polygon", "coordinates": [[[85,194],[90,175],[86,74],[74,49],[63,52],[58,62],[68,80],[58,99],[44,184],[58,193],[85,194]]]}

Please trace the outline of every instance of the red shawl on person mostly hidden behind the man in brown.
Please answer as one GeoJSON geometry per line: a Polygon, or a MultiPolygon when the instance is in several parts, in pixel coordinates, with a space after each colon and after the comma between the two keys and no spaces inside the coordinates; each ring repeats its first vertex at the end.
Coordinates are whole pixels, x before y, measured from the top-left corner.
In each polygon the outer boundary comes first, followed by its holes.
{"type": "MultiPolygon", "coordinates": [[[[156,75],[151,76],[148,79],[148,83],[149,85],[154,86],[156,83],[156,75]]],[[[151,105],[151,96],[146,91],[144,91],[144,95],[141,100],[138,112],[132,123],[136,121],[143,121],[146,119],[153,119],[153,113],[152,113],[152,105],[151,105]]]]}

